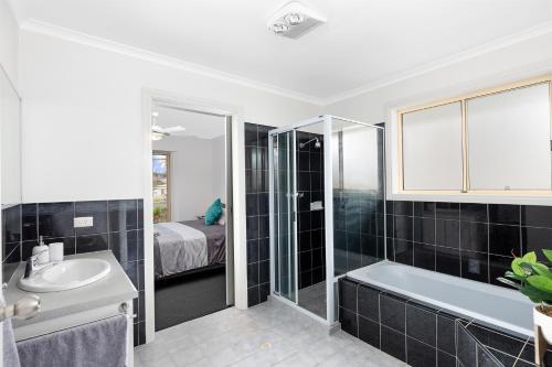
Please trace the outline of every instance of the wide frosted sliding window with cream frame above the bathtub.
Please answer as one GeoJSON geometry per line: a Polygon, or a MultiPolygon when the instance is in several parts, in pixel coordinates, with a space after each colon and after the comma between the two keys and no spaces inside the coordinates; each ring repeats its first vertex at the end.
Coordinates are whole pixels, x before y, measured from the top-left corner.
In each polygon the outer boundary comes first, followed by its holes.
{"type": "Polygon", "coordinates": [[[551,79],[400,111],[400,191],[551,194],[551,79]]]}

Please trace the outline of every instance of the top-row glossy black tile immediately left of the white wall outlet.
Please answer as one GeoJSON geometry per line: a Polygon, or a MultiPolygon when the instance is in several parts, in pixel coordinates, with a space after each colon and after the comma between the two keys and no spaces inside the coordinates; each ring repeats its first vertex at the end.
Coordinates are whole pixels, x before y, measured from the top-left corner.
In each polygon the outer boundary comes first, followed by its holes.
{"type": "Polygon", "coordinates": [[[39,235],[44,237],[74,236],[75,203],[39,204],[39,235]]]}

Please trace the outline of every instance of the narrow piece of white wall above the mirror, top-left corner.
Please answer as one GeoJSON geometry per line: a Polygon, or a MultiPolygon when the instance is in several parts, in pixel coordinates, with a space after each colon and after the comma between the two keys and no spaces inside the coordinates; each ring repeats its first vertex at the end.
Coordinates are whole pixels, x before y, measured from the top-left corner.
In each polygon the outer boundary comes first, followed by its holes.
{"type": "Polygon", "coordinates": [[[18,86],[19,26],[6,0],[0,0],[0,65],[18,86]]]}

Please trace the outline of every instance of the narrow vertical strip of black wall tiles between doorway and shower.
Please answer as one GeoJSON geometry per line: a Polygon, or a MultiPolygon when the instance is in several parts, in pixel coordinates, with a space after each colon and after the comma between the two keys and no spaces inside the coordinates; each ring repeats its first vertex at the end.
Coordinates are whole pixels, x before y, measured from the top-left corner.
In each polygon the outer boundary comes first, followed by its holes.
{"type": "Polygon", "coordinates": [[[245,201],[247,236],[247,305],[270,292],[268,219],[268,126],[245,123],[245,201]]]}

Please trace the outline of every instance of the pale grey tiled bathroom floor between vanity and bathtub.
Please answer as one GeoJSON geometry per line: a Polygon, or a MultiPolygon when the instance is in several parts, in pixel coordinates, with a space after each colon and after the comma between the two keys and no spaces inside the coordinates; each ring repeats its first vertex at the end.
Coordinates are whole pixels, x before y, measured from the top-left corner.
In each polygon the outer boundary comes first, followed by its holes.
{"type": "Polygon", "coordinates": [[[235,307],[156,334],[135,349],[136,367],[179,366],[405,366],[397,359],[298,311],[269,300],[235,307]]]}

